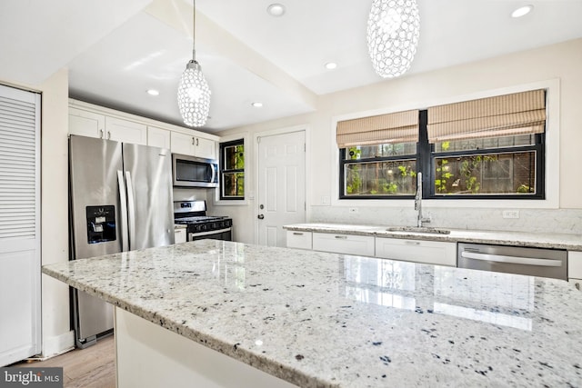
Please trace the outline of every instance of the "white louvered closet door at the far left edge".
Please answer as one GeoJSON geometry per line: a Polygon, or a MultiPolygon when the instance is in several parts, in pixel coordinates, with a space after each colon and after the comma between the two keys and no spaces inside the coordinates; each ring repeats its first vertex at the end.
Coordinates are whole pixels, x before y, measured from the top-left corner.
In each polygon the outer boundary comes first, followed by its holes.
{"type": "Polygon", "coordinates": [[[40,305],[40,95],[0,85],[0,366],[41,352],[40,305]]]}

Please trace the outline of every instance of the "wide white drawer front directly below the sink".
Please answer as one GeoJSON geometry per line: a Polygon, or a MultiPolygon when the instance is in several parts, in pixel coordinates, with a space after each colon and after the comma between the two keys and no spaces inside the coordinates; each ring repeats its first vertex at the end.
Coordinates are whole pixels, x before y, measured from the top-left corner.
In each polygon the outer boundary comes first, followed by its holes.
{"type": "Polygon", "coordinates": [[[376,257],[457,266],[457,243],[376,237],[376,257]]]}

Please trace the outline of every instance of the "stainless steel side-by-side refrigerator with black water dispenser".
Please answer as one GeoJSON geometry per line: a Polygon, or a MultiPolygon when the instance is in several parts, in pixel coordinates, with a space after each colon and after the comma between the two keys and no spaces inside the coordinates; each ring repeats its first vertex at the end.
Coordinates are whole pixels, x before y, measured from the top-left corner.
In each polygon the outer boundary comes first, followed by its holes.
{"type": "MultiPolygon", "coordinates": [[[[71,260],[174,244],[172,155],[146,145],[69,137],[71,260]]],[[[72,291],[75,343],[112,332],[113,308],[72,291]]]]}

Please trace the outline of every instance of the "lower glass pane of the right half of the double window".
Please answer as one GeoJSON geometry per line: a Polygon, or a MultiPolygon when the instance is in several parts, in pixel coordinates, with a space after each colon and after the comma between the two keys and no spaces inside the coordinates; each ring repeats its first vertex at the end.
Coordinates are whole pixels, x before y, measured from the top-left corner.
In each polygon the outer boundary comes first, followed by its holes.
{"type": "Polygon", "coordinates": [[[536,194],[536,152],[435,158],[435,194],[536,194]]]}

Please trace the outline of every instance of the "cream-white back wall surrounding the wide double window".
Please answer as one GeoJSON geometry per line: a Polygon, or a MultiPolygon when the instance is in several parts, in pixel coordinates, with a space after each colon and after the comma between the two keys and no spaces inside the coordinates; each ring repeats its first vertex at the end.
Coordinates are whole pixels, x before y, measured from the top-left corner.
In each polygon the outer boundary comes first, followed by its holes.
{"type": "MultiPolygon", "coordinates": [[[[307,193],[309,221],[368,224],[414,224],[412,204],[401,206],[383,204],[358,204],[358,214],[348,214],[349,201],[337,201],[336,145],[333,144],[333,122],[338,116],[366,114],[374,111],[399,110],[400,108],[425,108],[433,104],[446,104],[460,97],[477,95],[492,90],[514,88],[519,85],[537,84],[558,79],[559,82],[559,209],[523,209],[518,220],[506,220],[500,208],[487,204],[458,209],[441,204],[426,209],[433,215],[434,225],[466,228],[555,231],[582,233],[582,179],[578,178],[577,166],[582,165],[582,131],[579,130],[579,107],[582,106],[582,39],[536,50],[503,55],[468,65],[458,65],[418,75],[405,75],[376,85],[369,85],[335,94],[320,96],[318,109],[313,114],[303,114],[268,123],[248,125],[226,131],[220,135],[262,132],[276,128],[305,124],[311,128],[311,153],[307,155],[311,172],[307,176],[311,192],[307,193]],[[330,198],[333,206],[324,205],[330,198]]],[[[255,144],[246,145],[247,155],[254,154],[255,144]]],[[[249,157],[247,156],[247,161],[249,157]]],[[[255,190],[254,169],[246,176],[246,190],[255,190]]],[[[555,188],[554,188],[555,189],[555,188]]],[[[552,190],[549,187],[548,190],[552,190]]],[[[228,214],[236,225],[246,225],[239,241],[253,243],[256,204],[248,201],[242,206],[216,206],[213,213],[228,214]]],[[[467,206],[467,204],[466,204],[467,206]]],[[[531,207],[531,206],[529,206],[531,207]]],[[[518,208],[518,207],[517,207],[518,208]]]]}

